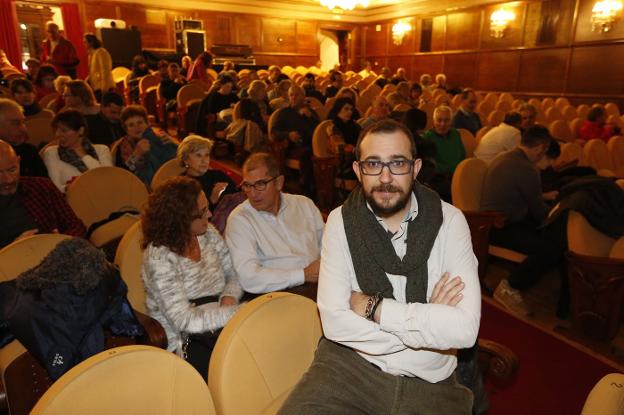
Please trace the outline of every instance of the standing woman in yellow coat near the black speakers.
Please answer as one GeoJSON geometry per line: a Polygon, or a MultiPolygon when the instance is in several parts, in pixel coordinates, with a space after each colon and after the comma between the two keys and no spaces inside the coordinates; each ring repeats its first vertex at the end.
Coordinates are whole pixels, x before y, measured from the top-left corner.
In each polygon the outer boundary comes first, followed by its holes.
{"type": "Polygon", "coordinates": [[[85,33],[85,45],[89,52],[89,77],[87,81],[98,101],[102,94],[115,89],[113,59],[102,47],[102,42],[93,33],[85,33]]]}

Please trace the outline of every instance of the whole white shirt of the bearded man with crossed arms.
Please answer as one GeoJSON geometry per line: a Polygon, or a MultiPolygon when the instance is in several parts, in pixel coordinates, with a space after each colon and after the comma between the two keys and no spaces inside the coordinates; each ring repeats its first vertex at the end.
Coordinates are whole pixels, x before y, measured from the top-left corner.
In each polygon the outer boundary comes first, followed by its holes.
{"type": "MultiPolygon", "coordinates": [[[[349,252],[342,207],[335,209],[327,220],[317,298],[328,339],[351,347],[387,373],[417,376],[429,382],[439,382],[452,374],[457,366],[455,349],[474,345],[481,318],[477,259],[472,252],[468,224],[457,208],[441,203],[443,222],[427,261],[427,301],[435,283],[449,272],[451,277],[459,275],[465,283],[459,304],[408,304],[406,278],[386,274],[395,299],[383,300],[380,323],[351,311],[351,292],[361,290],[349,252]]],[[[401,229],[392,237],[400,258],[406,251],[408,223],[418,215],[414,195],[410,206],[401,229]]]]}

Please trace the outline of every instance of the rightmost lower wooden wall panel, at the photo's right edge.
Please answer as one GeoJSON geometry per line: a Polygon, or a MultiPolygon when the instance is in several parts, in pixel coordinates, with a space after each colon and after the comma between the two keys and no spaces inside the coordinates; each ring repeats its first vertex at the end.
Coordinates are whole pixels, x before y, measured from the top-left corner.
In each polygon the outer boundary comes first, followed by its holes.
{"type": "Polygon", "coordinates": [[[624,44],[574,47],[567,91],[624,95],[624,44]]]}

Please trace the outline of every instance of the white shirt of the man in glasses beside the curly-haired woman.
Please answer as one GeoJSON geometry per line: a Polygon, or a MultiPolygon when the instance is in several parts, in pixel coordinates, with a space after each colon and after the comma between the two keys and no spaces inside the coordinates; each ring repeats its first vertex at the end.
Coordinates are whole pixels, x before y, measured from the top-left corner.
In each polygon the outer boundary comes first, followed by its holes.
{"type": "Polygon", "coordinates": [[[277,215],[249,200],[237,206],[225,241],[243,289],[257,294],[303,284],[303,269],[319,258],[323,227],[321,212],[305,196],[282,193],[277,215]]]}

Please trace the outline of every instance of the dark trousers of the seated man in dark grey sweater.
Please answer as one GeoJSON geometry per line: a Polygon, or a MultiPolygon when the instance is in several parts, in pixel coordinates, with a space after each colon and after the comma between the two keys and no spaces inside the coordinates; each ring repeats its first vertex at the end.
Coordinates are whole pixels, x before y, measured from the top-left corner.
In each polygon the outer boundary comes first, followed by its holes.
{"type": "Polygon", "coordinates": [[[567,250],[567,215],[559,217],[544,229],[538,229],[531,220],[493,228],[490,242],[527,255],[527,258],[509,276],[509,285],[525,290],[535,284],[544,273],[563,263],[567,250]]]}

